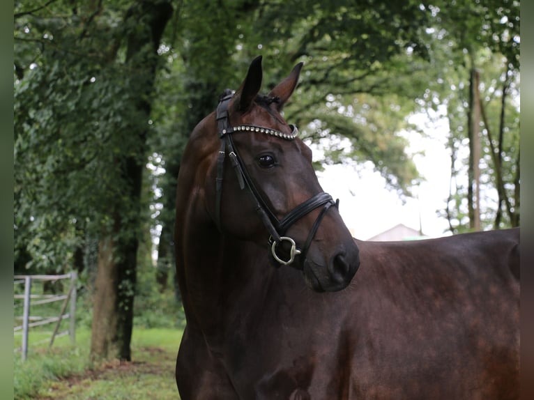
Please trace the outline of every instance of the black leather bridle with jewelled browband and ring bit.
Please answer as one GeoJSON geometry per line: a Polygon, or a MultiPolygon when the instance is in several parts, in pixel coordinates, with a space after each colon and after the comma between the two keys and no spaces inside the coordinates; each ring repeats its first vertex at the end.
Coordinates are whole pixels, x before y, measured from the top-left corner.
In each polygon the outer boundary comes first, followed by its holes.
{"type": "MultiPolygon", "coordinates": [[[[321,220],[326,214],[326,211],[328,211],[328,208],[330,208],[330,206],[335,205],[337,208],[339,206],[339,200],[334,201],[332,197],[330,196],[330,194],[325,193],[325,192],[320,192],[312,196],[310,199],[307,199],[304,203],[301,203],[295,208],[293,208],[293,210],[291,210],[284,218],[282,218],[282,220],[278,220],[278,218],[274,215],[274,213],[267,206],[264,199],[261,197],[261,194],[258,192],[257,188],[254,186],[252,178],[250,178],[250,175],[248,174],[248,171],[245,168],[245,165],[243,164],[241,158],[239,157],[236,151],[236,146],[234,145],[234,140],[232,139],[232,133],[259,132],[263,134],[270,134],[275,137],[280,137],[281,139],[292,140],[292,139],[295,139],[295,137],[297,136],[298,129],[294,125],[289,125],[292,128],[292,132],[291,134],[285,134],[278,130],[264,128],[264,127],[256,126],[256,125],[239,125],[236,127],[231,127],[229,125],[228,105],[233,95],[234,93],[231,93],[229,95],[225,95],[224,97],[220,99],[219,105],[217,107],[217,113],[215,116],[215,118],[217,119],[217,123],[218,123],[219,136],[221,139],[221,146],[220,146],[219,157],[217,161],[217,178],[216,178],[216,183],[215,183],[216,185],[215,223],[218,225],[220,229],[222,176],[223,176],[223,171],[224,171],[224,157],[228,153],[232,167],[234,167],[234,171],[236,171],[236,176],[238,179],[239,187],[241,187],[241,190],[247,187],[248,192],[250,193],[251,199],[254,202],[254,208],[256,212],[258,213],[261,222],[263,222],[267,231],[270,234],[270,238],[268,242],[271,248],[271,253],[273,254],[275,261],[277,261],[277,263],[281,265],[289,265],[293,263],[293,261],[295,260],[295,256],[299,254],[300,254],[300,258],[302,260],[305,260],[307,251],[310,248],[310,245],[315,236],[315,233],[317,229],[319,229],[319,224],[321,224],[321,220]],[[315,208],[318,208],[321,206],[322,206],[321,212],[317,216],[314,222],[314,225],[312,226],[312,230],[310,231],[304,246],[301,249],[298,249],[296,246],[295,240],[287,236],[284,236],[284,233],[286,233],[287,229],[289,229],[291,225],[293,225],[295,222],[300,220],[300,218],[304,217],[305,215],[310,213],[315,208]],[[291,249],[289,251],[289,259],[285,259],[285,260],[282,259],[282,257],[280,257],[276,253],[277,246],[280,245],[280,243],[284,241],[287,241],[291,245],[291,249]]],[[[300,268],[302,268],[302,265],[300,266],[300,268]]]]}

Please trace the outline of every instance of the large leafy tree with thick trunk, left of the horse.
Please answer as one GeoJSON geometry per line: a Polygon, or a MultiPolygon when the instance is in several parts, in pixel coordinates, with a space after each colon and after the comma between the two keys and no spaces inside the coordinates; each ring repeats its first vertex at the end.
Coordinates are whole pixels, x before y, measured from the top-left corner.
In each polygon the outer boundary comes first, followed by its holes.
{"type": "Polygon", "coordinates": [[[86,234],[98,238],[95,359],[130,359],[148,116],[171,12],[166,1],[15,4],[15,237],[41,268],[64,268],[86,234]]]}

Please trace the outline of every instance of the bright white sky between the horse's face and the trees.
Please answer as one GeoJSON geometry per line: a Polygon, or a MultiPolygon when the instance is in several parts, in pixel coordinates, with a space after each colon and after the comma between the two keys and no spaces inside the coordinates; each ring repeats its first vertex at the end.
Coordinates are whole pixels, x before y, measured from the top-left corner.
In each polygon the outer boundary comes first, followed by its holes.
{"type": "Polygon", "coordinates": [[[425,177],[420,187],[413,189],[418,199],[407,199],[403,205],[395,192],[386,189],[380,174],[365,169],[358,174],[353,167],[335,165],[317,173],[325,192],[340,199],[340,213],[353,236],[367,240],[397,224],[404,224],[430,237],[445,236],[448,222],[438,217],[436,210],[445,208],[450,184],[450,152],[446,147],[448,125],[442,119],[430,123],[425,116],[417,116],[425,124],[429,137],[409,133],[409,152],[424,150],[413,160],[425,177]],[[426,121],[425,121],[426,120],[426,121]]]}

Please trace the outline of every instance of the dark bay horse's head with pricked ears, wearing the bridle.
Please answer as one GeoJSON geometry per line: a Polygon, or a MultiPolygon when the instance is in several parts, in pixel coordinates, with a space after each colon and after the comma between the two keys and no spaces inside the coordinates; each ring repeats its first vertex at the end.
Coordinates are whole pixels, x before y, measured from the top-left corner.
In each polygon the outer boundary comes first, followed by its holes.
{"type": "Polygon", "coordinates": [[[314,291],[338,291],[358,270],[358,247],[319,185],[312,151],[281,114],[302,65],[261,95],[261,56],[254,59],[239,89],[225,91],[194,129],[183,163],[203,178],[191,191],[221,235],[266,247],[275,266],[302,270],[314,291]]]}

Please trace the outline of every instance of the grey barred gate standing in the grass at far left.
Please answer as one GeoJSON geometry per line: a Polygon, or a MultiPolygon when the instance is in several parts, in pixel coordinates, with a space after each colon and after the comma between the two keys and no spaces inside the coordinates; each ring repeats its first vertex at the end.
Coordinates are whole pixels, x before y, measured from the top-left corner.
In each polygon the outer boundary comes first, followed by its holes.
{"type": "MultiPolygon", "coordinates": [[[[15,348],[15,351],[21,351],[22,360],[26,360],[28,356],[28,333],[29,328],[33,328],[39,325],[47,325],[49,323],[56,323],[54,331],[52,332],[52,337],[49,341],[49,347],[52,347],[54,344],[54,339],[56,337],[61,337],[66,334],[70,334],[71,343],[75,344],[75,332],[76,332],[76,280],[77,273],[70,272],[65,275],[15,275],[14,277],[15,284],[24,284],[24,294],[15,294],[15,299],[24,300],[24,311],[22,316],[15,316],[17,320],[22,320],[22,325],[15,326],[13,332],[22,330],[22,346],[20,348],[15,348]],[[32,281],[57,281],[59,279],[70,279],[70,289],[68,294],[60,295],[37,295],[31,294],[31,283],[32,281]],[[31,316],[30,315],[30,306],[43,305],[50,302],[59,302],[63,301],[61,305],[61,311],[59,316],[31,316]],[[67,311],[67,306],[70,302],[70,310],[67,311]],[[59,331],[59,326],[63,319],[70,319],[69,329],[63,332],[59,331]]],[[[45,339],[48,341],[48,339],[45,339]]],[[[36,342],[43,343],[43,341],[36,342]]]]}

